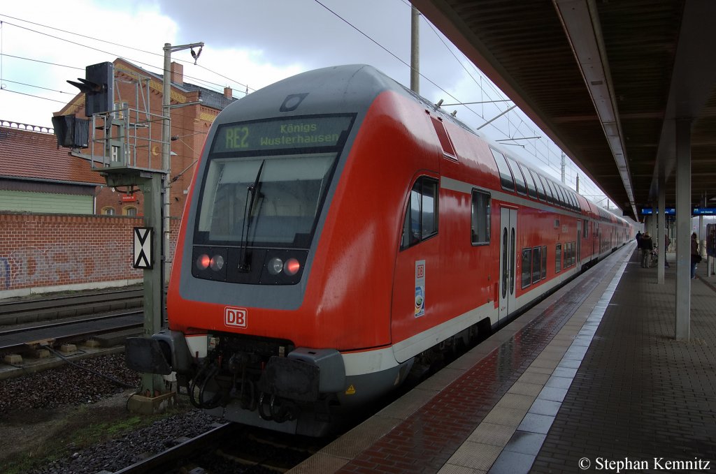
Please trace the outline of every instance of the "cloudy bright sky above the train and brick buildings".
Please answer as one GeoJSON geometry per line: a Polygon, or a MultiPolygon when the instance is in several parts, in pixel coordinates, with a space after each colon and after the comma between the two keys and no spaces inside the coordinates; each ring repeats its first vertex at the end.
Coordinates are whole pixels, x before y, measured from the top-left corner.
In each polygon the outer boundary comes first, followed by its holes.
{"type": "MultiPolygon", "coordinates": [[[[203,42],[196,65],[189,51],[185,82],[243,97],[301,71],[371,64],[410,84],[410,4],[407,0],[65,0],[5,1],[0,6],[0,120],[51,127],[77,93],[67,79],[84,67],[122,57],[161,73],[163,46],[203,42]]],[[[453,44],[420,20],[420,94],[432,102],[508,99],[453,44]]],[[[511,102],[445,107],[477,128],[511,102]]],[[[518,140],[515,154],[560,177],[560,150],[514,109],[480,130],[489,139],[518,140]]],[[[503,142],[505,143],[505,142],[503,142]]],[[[599,204],[594,184],[568,160],[566,181],[599,204]]]]}

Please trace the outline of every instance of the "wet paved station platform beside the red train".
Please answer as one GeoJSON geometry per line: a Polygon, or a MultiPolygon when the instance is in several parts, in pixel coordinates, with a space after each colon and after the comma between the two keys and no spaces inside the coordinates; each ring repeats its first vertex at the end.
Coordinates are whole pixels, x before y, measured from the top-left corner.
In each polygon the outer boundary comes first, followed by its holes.
{"type": "Polygon", "coordinates": [[[706,273],[691,280],[690,340],[674,340],[676,265],[659,285],[630,243],[289,472],[709,472],[706,273]]]}

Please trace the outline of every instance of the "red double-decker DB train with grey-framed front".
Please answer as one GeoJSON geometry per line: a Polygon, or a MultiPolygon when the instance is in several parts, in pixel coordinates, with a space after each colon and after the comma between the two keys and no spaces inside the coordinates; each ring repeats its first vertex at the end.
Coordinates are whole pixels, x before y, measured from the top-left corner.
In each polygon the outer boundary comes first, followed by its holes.
{"type": "Polygon", "coordinates": [[[213,123],[168,329],[127,359],[228,420],[322,435],[631,238],[376,69],[309,71],[213,123]]]}

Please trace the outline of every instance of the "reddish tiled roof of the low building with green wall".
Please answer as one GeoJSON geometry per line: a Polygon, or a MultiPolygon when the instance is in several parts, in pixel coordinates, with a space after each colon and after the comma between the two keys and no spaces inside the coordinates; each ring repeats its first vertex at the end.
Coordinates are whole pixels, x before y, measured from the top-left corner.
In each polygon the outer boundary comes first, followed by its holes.
{"type": "Polygon", "coordinates": [[[54,134],[0,122],[0,178],[33,179],[77,184],[105,184],[86,159],[57,148],[54,134]]]}

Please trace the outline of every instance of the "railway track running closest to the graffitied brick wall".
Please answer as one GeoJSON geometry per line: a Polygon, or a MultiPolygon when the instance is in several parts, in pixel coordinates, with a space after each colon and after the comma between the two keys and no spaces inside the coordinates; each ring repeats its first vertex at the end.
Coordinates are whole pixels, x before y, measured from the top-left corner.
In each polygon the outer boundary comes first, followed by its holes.
{"type": "Polygon", "coordinates": [[[0,327],[142,307],[141,288],[0,302],[0,327]]]}

